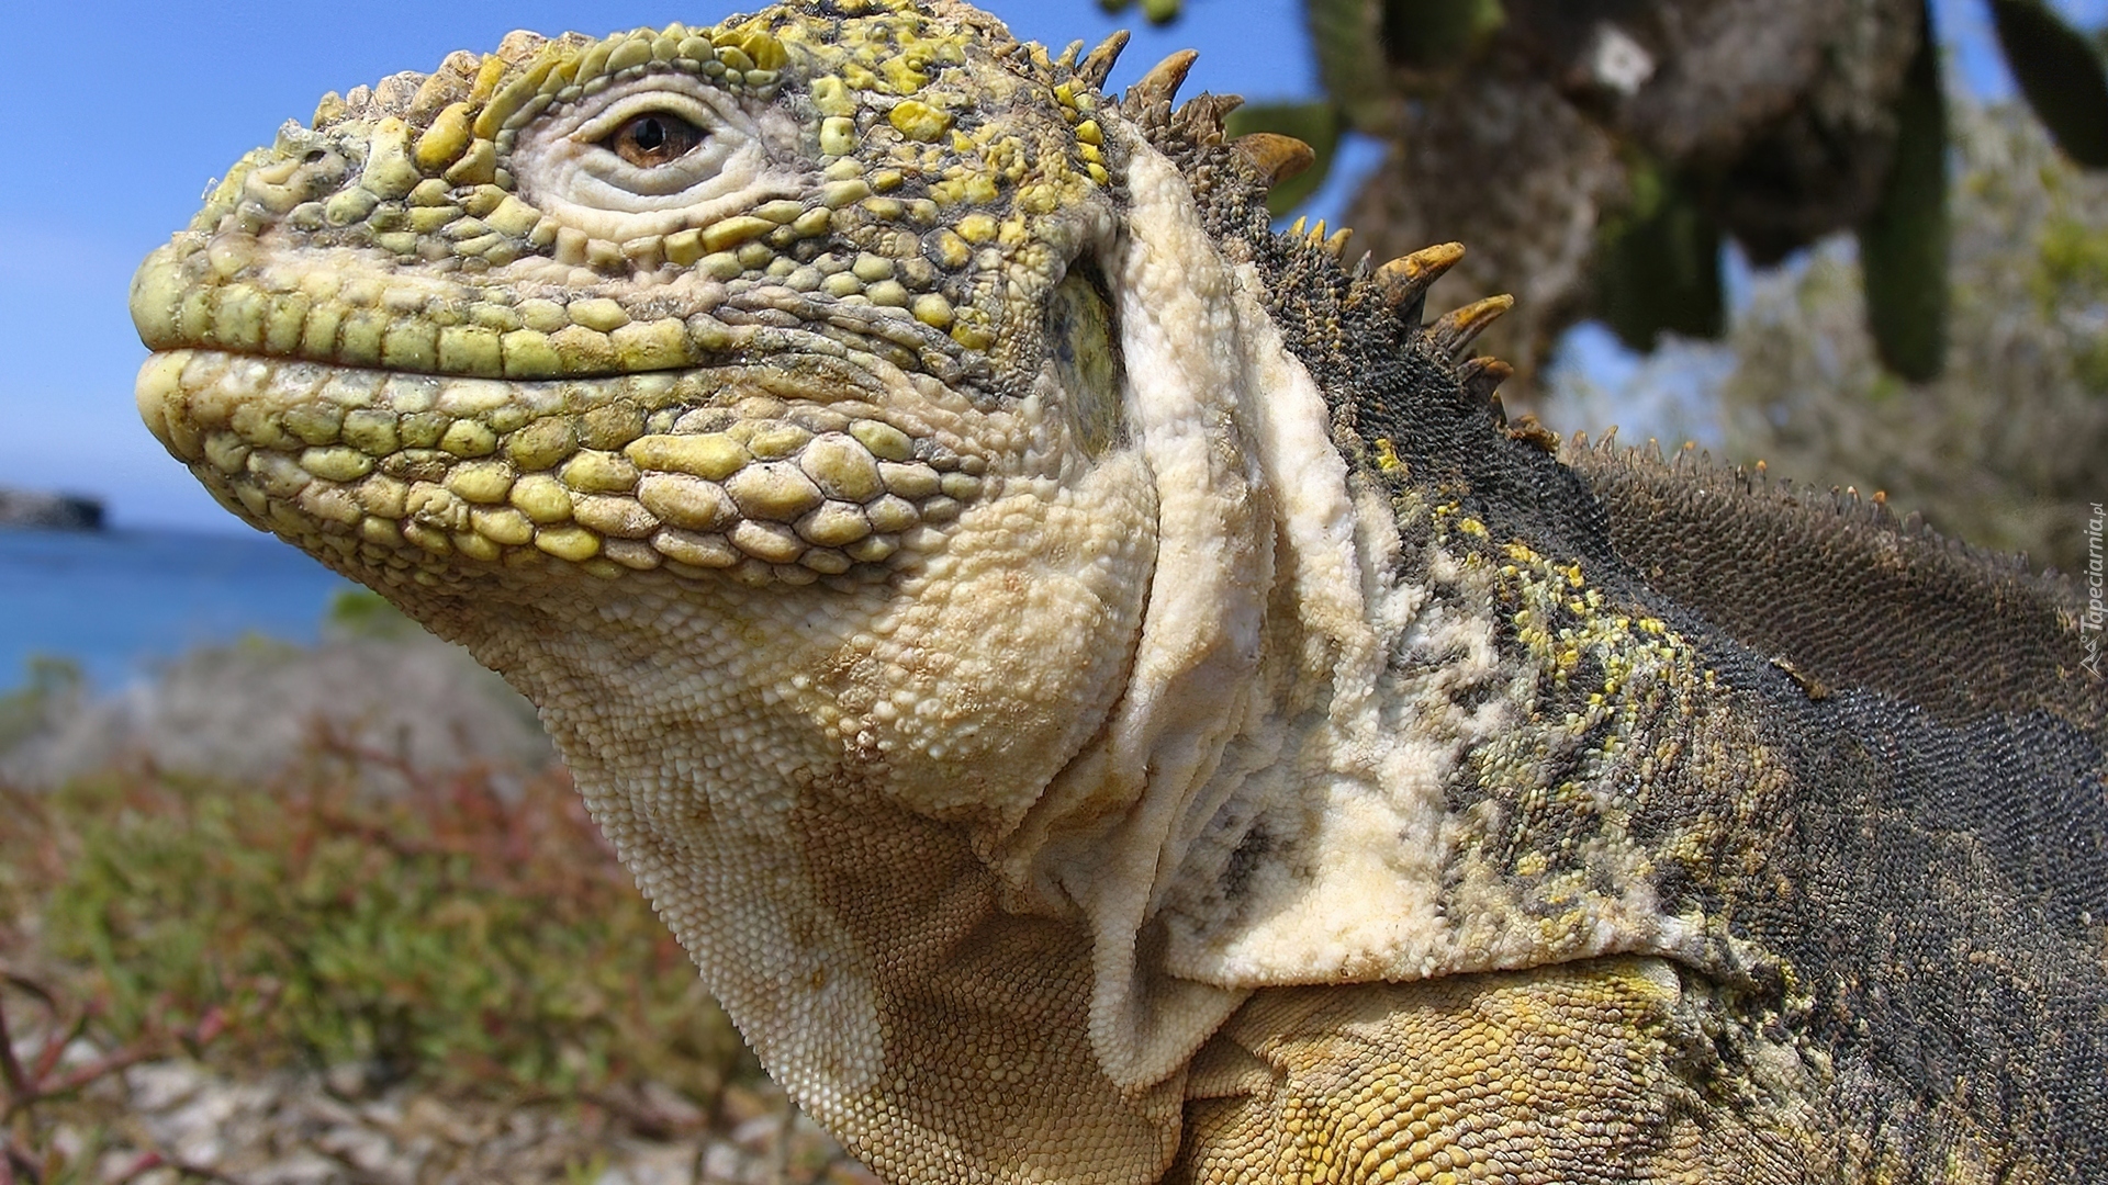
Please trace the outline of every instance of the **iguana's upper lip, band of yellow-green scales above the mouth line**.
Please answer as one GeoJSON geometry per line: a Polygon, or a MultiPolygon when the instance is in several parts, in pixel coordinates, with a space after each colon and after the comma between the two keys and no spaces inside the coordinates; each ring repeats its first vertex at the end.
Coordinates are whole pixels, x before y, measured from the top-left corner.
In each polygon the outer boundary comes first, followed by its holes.
{"type": "MultiPolygon", "coordinates": [[[[261,173],[242,164],[228,186],[247,188],[261,173]]],[[[489,217],[514,226],[502,211],[489,217]]],[[[687,257],[658,264],[679,259],[687,257]]],[[[795,365],[801,354],[887,358],[953,384],[968,377],[959,344],[932,325],[944,316],[906,308],[906,289],[892,278],[906,264],[833,253],[788,268],[780,283],[744,276],[729,253],[689,264],[647,283],[626,261],[590,270],[546,257],[426,272],[375,249],[314,247],[280,226],[221,226],[179,234],[148,255],[131,285],[131,312],[150,350],[438,377],[592,380],[763,356],[795,365]],[[590,287],[567,291],[580,274],[590,287]]]]}

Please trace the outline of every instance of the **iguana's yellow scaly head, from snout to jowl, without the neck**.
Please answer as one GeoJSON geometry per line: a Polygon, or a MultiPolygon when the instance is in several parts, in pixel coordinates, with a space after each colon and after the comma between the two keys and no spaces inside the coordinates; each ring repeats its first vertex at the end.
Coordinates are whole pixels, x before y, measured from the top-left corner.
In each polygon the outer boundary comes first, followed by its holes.
{"type": "Polygon", "coordinates": [[[1149,565],[1109,65],[871,0],[331,95],[139,270],[139,407],[230,510],[470,645],[643,601],[788,630],[723,647],[978,810],[972,761],[1094,727],[1022,717],[1102,713],[1128,647],[1084,652],[1149,565]],[[976,732],[909,740],[936,687],[976,732]]]}

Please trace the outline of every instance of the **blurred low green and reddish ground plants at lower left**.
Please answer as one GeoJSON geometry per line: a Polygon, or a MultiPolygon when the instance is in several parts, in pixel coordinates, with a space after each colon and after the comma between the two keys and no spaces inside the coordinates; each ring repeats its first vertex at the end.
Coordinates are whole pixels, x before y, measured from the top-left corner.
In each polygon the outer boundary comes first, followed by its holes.
{"type": "Polygon", "coordinates": [[[48,1054],[0,1065],[19,1179],[72,1179],[53,1105],[177,1052],[601,1109],[649,1082],[710,1113],[761,1080],[567,776],[396,768],[409,791],[377,797],[363,763],[396,761],[323,742],[272,784],[0,791],[0,1029],[48,1054]]]}

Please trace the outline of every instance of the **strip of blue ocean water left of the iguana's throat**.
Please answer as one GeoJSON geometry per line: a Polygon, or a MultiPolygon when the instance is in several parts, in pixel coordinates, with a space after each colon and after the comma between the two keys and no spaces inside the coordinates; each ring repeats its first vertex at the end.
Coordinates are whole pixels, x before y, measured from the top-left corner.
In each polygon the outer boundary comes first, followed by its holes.
{"type": "Polygon", "coordinates": [[[0,529],[0,692],[38,656],[110,692],[209,643],[314,643],[346,588],[261,533],[0,529]]]}

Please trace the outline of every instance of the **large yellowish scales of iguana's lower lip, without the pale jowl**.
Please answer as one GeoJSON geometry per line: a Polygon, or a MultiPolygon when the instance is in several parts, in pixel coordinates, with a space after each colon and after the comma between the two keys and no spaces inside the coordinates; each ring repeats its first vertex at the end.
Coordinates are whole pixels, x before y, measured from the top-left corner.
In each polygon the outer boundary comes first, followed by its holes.
{"type": "Polygon", "coordinates": [[[428,586],[544,563],[871,580],[987,474],[839,358],[500,382],[167,350],[137,399],[251,525],[428,586]]]}

